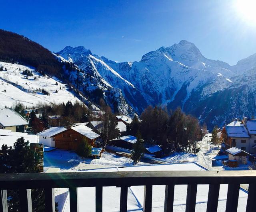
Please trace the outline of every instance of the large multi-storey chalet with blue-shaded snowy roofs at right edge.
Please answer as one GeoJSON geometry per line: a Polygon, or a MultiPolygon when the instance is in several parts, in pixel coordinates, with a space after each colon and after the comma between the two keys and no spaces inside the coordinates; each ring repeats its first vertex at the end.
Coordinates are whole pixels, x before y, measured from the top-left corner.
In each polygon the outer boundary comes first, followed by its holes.
{"type": "Polygon", "coordinates": [[[237,119],[223,127],[222,142],[226,149],[237,147],[251,154],[256,154],[256,119],[237,119]]]}

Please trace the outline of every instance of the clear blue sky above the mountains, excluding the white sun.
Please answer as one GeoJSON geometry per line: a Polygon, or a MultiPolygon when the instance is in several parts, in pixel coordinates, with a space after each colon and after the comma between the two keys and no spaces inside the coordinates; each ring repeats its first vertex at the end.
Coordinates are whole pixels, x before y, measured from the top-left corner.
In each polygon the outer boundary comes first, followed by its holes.
{"type": "Polygon", "coordinates": [[[209,59],[236,64],[256,53],[256,24],[235,8],[236,0],[2,1],[0,28],[50,49],[83,45],[115,61],[180,40],[209,59]]]}

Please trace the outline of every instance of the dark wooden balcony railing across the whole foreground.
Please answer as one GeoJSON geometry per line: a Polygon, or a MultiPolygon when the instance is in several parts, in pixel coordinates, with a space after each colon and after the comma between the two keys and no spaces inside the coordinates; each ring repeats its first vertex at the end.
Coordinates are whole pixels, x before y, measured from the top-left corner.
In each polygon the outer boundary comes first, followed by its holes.
{"type": "Polygon", "coordinates": [[[188,185],[186,212],[194,212],[197,186],[208,184],[207,212],[216,212],[220,184],[228,184],[226,212],[236,212],[240,184],[249,184],[246,212],[256,211],[256,171],[134,171],[134,172],[76,172],[0,174],[0,211],[6,212],[6,190],[20,192],[20,211],[31,210],[31,188],[45,189],[46,211],[54,211],[54,188],[69,188],[70,212],[78,211],[77,188],[96,187],[96,212],[102,212],[102,187],[121,188],[120,211],[127,210],[127,190],[130,186],[144,185],[144,211],[152,209],[152,186],[166,185],[164,211],[173,211],[174,185],[188,185]]]}

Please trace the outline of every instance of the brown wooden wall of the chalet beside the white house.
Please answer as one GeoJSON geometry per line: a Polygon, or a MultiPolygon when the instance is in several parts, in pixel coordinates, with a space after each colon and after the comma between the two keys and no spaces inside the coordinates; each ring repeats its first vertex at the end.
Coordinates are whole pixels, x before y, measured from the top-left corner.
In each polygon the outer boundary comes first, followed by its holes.
{"type": "Polygon", "coordinates": [[[58,149],[77,150],[78,144],[82,139],[86,139],[92,146],[94,146],[95,139],[89,139],[75,130],[68,129],[54,137],[55,147],[58,149]]]}

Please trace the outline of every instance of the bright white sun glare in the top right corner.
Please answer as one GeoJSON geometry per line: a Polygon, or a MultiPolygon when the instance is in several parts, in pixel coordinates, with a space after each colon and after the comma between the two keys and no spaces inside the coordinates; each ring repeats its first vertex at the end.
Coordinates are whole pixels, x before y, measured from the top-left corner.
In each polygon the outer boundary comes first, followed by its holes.
{"type": "Polygon", "coordinates": [[[256,25],[256,0],[236,0],[236,10],[242,20],[256,25]]]}

